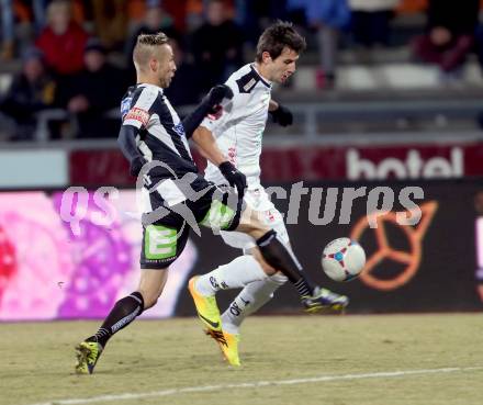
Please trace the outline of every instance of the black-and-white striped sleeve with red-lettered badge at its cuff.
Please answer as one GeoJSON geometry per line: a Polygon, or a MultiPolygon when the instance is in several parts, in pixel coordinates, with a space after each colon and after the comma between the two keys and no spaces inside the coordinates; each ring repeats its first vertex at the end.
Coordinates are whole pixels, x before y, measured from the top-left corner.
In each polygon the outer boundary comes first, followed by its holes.
{"type": "Polygon", "coordinates": [[[132,125],[138,130],[147,127],[157,97],[157,90],[141,88],[132,97],[125,98],[121,104],[123,125],[132,125]]]}

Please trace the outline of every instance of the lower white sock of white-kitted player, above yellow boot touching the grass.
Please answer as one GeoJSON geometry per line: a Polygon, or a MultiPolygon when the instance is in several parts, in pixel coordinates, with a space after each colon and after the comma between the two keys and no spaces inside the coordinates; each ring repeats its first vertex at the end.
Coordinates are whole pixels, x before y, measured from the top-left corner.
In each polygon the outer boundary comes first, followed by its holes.
{"type": "Polygon", "coordinates": [[[244,319],[272,299],[273,292],[283,285],[287,280],[285,275],[276,273],[245,286],[223,313],[223,330],[229,334],[238,334],[238,328],[244,319]]]}

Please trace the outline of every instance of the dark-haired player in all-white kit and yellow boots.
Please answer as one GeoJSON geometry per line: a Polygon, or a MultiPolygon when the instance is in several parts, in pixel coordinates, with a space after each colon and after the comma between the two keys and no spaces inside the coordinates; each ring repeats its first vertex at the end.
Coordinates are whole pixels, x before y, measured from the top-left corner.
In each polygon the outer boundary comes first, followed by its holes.
{"type": "MultiPolygon", "coordinates": [[[[295,72],[299,54],[304,48],[305,40],[291,23],[277,22],[267,29],[259,38],[255,63],[243,66],[225,83],[232,89],[233,99],[225,99],[221,115],[209,115],[193,134],[194,142],[209,160],[205,178],[217,184],[226,183],[217,165],[227,157],[247,178],[246,203],[288,247],[290,241],[283,218],[260,184],[259,160],[268,114],[282,126],[292,123],[291,112],[271,100],[272,82],[283,83],[295,72]]],[[[194,277],[190,282],[190,292],[196,305],[200,294],[213,296],[220,290],[243,289],[222,315],[223,333],[210,327],[205,329],[218,341],[228,362],[239,365],[242,322],[266,304],[288,278],[280,272],[268,275],[263,271],[256,260],[257,245],[250,236],[222,232],[222,237],[226,244],[242,248],[245,255],[207,274],[194,277]]],[[[341,310],[348,304],[346,296],[325,289],[323,294],[328,299],[327,307],[341,310]]]]}

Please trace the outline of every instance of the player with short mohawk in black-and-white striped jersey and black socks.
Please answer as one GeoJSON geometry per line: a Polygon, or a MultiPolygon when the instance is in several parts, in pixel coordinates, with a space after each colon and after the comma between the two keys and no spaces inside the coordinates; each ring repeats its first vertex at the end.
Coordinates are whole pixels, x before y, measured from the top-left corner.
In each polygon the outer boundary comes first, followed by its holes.
{"type": "MultiPolygon", "coordinates": [[[[109,339],[130,325],[143,311],[156,304],[162,293],[169,266],[181,255],[189,228],[198,224],[212,229],[238,230],[250,235],[260,255],[260,266],[269,273],[277,269],[291,280],[303,306],[316,311],[327,297],[306,279],[293,254],[244,207],[246,177],[227,159],[216,161],[229,189],[217,188],[198,171],[188,138],[214,105],[233,97],[229,87],[213,88],[201,104],[183,121],[165,97],[175,75],[172,49],[165,34],[139,35],[133,52],[137,85],[128,90],[121,105],[119,144],[138,176],[138,192],[144,205],[141,280],[136,291],[119,300],[99,330],[76,347],[76,372],[92,373],[109,339]],[[143,184],[144,182],[144,184],[143,184]],[[139,190],[141,189],[141,190],[139,190]]],[[[220,311],[214,296],[198,295],[200,319],[222,334],[220,311]]]]}

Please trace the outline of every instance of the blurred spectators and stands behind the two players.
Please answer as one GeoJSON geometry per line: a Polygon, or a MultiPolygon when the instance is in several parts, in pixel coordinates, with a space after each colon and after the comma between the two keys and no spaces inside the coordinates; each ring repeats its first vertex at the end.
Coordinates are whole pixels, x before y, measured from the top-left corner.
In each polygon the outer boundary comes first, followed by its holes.
{"type": "Polygon", "coordinates": [[[166,93],[182,113],[254,60],[259,34],[277,19],[308,44],[295,77],[274,92],[300,114],[292,132],[478,128],[481,3],[0,0],[0,139],[116,137],[139,33],[171,38],[178,71],[166,93]]]}

